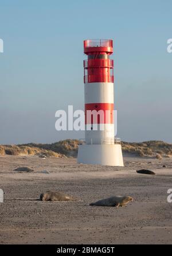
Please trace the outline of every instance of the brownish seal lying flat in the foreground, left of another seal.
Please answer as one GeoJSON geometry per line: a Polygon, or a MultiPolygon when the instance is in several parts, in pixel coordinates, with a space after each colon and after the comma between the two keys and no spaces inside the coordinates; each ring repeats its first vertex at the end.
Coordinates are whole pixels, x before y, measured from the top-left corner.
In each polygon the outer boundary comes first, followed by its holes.
{"type": "Polygon", "coordinates": [[[40,195],[41,201],[75,201],[71,195],[67,195],[61,192],[47,191],[40,195]]]}

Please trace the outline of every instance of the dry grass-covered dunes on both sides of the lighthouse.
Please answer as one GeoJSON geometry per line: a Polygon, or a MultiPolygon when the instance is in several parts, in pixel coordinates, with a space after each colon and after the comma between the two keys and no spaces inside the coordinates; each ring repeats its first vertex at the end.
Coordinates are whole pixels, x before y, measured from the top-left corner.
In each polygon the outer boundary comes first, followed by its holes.
{"type": "MultiPolygon", "coordinates": [[[[52,144],[0,145],[0,155],[45,155],[55,157],[76,157],[79,140],[64,140],[52,144]]],[[[123,153],[135,156],[150,156],[161,159],[172,155],[172,144],[163,141],[122,142],[123,153]]]]}

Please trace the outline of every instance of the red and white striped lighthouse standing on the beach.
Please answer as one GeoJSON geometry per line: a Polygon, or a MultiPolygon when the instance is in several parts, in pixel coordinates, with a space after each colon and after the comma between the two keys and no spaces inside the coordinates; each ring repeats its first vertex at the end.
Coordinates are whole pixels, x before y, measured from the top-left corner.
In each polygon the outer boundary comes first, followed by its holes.
{"type": "Polygon", "coordinates": [[[120,139],[114,137],[113,41],[84,40],[85,144],[77,161],[123,166],[120,139]]]}

